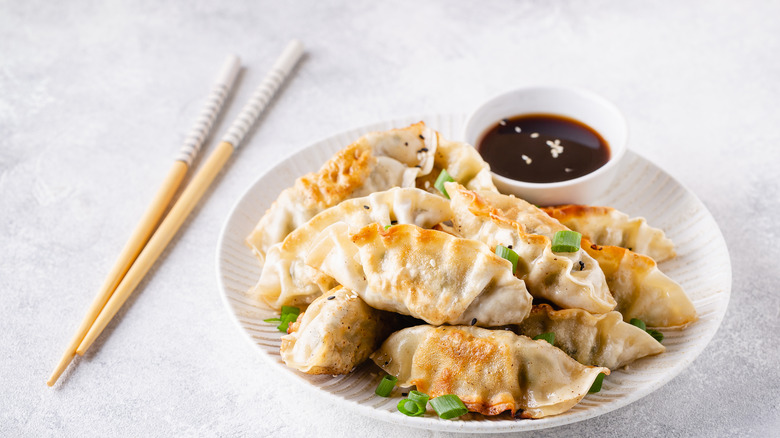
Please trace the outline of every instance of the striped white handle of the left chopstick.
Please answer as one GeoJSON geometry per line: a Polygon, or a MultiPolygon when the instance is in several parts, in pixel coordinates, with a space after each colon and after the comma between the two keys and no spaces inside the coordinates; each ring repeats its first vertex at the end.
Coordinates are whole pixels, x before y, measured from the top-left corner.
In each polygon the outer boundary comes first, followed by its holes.
{"type": "Polygon", "coordinates": [[[192,127],[189,135],[184,140],[176,160],[185,162],[188,167],[192,166],[192,162],[195,160],[198,152],[200,152],[203,142],[206,141],[211,127],[214,126],[214,121],[217,120],[217,116],[219,116],[222,106],[225,104],[225,99],[230,95],[230,90],[233,89],[233,84],[236,82],[236,76],[238,76],[240,68],[241,63],[238,57],[236,55],[228,55],[214,86],[211,88],[208,99],[206,99],[206,105],[195,120],[195,125],[192,127]]]}

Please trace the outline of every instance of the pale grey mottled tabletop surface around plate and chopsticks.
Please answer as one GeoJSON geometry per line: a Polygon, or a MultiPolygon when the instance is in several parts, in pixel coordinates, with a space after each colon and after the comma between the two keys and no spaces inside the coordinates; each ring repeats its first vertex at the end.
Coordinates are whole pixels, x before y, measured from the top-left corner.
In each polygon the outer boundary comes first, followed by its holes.
{"type": "Polygon", "coordinates": [[[218,233],[259,174],[314,140],[537,83],[623,109],[631,147],[712,211],[734,285],[715,339],[671,383],[536,435],[780,435],[780,246],[766,243],[780,239],[780,5],[477,3],[0,0],[0,435],[441,436],[269,373],[220,301],[218,233]],[[224,55],[248,67],[242,103],[291,37],[308,56],[282,98],[96,348],[47,388],[224,55]]]}

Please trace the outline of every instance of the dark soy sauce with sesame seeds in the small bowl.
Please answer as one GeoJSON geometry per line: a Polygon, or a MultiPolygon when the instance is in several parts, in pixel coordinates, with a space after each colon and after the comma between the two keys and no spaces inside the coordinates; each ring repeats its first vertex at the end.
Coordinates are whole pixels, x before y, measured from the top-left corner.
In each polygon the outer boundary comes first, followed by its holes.
{"type": "Polygon", "coordinates": [[[503,119],[478,142],[490,170],[518,181],[548,183],[593,172],[609,160],[609,145],[568,117],[528,114],[503,119]]]}

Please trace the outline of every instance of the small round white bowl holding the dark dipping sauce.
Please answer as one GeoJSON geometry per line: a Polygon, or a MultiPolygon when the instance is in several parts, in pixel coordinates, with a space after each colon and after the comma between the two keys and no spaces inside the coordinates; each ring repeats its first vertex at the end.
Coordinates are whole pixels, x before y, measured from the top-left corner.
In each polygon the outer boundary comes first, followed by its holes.
{"type": "Polygon", "coordinates": [[[555,114],[579,120],[607,141],[609,160],[587,175],[552,183],[529,183],[493,173],[493,182],[501,193],[511,193],[536,205],[588,204],[610,187],[628,140],[626,119],[614,104],[578,88],[520,88],[502,93],[477,108],[466,121],[464,138],[477,147],[501,119],[524,114],[555,114]]]}

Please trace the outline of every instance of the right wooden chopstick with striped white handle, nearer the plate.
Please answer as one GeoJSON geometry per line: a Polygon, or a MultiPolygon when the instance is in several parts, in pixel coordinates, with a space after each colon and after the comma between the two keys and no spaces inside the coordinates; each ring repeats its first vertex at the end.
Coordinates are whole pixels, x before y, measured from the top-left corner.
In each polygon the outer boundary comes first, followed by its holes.
{"type": "Polygon", "coordinates": [[[295,64],[303,55],[303,45],[297,40],[291,41],[276,60],[271,71],[255,90],[249,102],[244,105],[241,113],[228,129],[222,141],[203,164],[203,168],[195,174],[192,182],[187,185],[181,197],[173,205],[160,227],[157,228],[149,243],[146,244],[125,278],[108,300],[100,316],[92,324],[89,332],[76,350],[79,354],[85,351],[97,339],[111,318],[119,311],[133,290],[141,282],[165,247],[184,223],[189,213],[216,178],[233,151],[240,145],[247,131],[255,124],[268,105],[279,86],[289,75],[295,64]]]}

